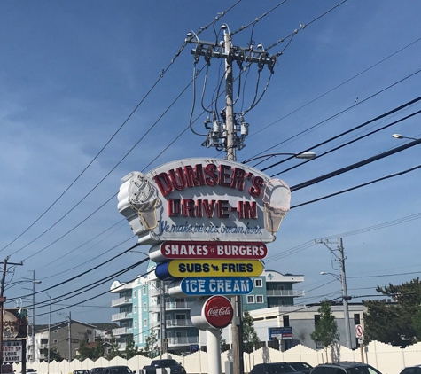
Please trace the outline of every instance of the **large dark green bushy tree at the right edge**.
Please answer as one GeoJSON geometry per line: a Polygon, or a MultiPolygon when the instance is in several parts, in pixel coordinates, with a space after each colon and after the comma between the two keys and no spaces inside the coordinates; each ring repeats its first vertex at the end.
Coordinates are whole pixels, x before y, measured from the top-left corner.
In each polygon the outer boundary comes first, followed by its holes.
{"type": "Polygon", "coordinates": [[[421,283],[419,277],[400,285],[378,286],[377,292],[395,303],[365,301],[364,341],[378,340],[405,347],[421,340],[421,283]]]}

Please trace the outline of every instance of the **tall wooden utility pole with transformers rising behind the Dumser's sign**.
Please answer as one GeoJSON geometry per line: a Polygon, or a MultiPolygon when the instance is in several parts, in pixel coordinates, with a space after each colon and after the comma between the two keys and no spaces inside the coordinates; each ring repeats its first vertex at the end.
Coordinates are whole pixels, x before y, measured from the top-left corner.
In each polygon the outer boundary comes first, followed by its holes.
{"type": "MultiPolygon", "coordinates": [[[[259,71],[267,65],[270,72],[273,73],[277,57],[275,55],[269,57],[268,52],[262,48],[261,44],[259,44],[257,50],[253,49],[253,44],[248,47],[234,46],[231,41],[229,27],[223,24],[221,28],[223,30],[223,42],[221,43],[200,41],[197,36],[193,36],[191,33],[187,35],[186,43],[197,44],[196,48],[191,51],[191,54],[194,55],[195,64],[199,61],[200,56],[204,56],[208,65],[210,65],[211,58],[225,58],[225,108],[221,113],[222,120],[225,123],[221,124],[220,121],[217,121],[216,113],[213,113],[213,121],[209,119],[205,121],[205,127],[210,130],[207,140],[202,145],[207,147],[214,146],[217,151],[224,150],[226,152],[226,160],[236,161],[237,149],[241,150],[246,146],[244,139],[248,135],[249,125],[244,121],[242,115],[238,116],[237,121],[237,114],[234,112],[232,65],[236,61],[239,68],[243,70],[243,62],[249,65],[257,63],[259,71]],[[212,126],[209,127],[208,124],[211,122],[212,126]]],[[[231,323],[232,374],[244,374],[243,297],[232,297],[231,303],[234,310],[234,320],[231,323]]]]}

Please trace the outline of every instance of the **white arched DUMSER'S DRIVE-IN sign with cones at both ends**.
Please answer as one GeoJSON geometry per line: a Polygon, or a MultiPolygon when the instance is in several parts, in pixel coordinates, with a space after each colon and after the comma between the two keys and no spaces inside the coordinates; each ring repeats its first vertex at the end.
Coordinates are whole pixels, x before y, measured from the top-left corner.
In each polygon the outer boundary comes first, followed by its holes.
{"type": "Polygon", "coordinates": [[[171,240],[269,243],[290,208],[280,179],[230,160],[186,159],[122,179],[118,209],[145,245],[171,240]]]}

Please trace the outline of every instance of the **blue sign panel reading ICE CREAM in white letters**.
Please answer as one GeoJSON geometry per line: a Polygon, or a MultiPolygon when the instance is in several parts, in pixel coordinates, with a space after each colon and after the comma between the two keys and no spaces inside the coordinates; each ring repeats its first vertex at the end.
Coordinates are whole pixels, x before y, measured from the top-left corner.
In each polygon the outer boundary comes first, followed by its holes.
{"type": "Polygon", "coordinates": [[[246,295],[253,291],[253,280],[249,277],[188,277],[180,286],[189,296],[246,295]]]}

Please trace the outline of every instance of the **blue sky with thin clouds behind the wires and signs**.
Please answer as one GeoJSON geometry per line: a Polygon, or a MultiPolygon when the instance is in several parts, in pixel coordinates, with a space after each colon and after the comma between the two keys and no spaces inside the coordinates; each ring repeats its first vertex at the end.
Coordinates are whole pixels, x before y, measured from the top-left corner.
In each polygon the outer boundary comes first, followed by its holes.
{"type": "MultiPolygon", "coordinates": [[[[239,161],[268,152],[313,149],[419,96],[420,3],[348,0],[331,12],[327,11],[340,1],[280,3],[243,0],[232,9],[234,2],[222,1],[0,3],[0,259],[10,255],[9,261],[24,261],[24,266],[16,267],[6,279],[4,294],[8,299],[29,293],[22,287],[30,288],[30,283],[13,282],[31,278],[34,270],[35,277],[43,282],[36,284],[36,289],[45,290],[136,243],[113,198],[121,178],[130,171],[145,172],[189,157],[223,157],[200,146],[204,137],[187,129],[193,105],[193,44],[177,54],[189,31],[198,33],[223,11],[230,9],[214,27],[199,34],[201,40],[214,41],[222,23],[231,32],[250,25],[233,35],[233,43],[239,46],[252,40],[268,48],[299,30],[291,43],[286,39],[269,50],[277,53],[285,49],[266,94],[246,114],[250,136],[246,148],[238,152],[239,161]],[[259,20],[253,24],[256,18],[259,20]],[[301,29],[300,24],[307,26],[301,29]],[[162,69],[165,74],[160,79],[162,69]]],[[[203,66],[200,59],[197,67],[203,66]]],[[[207,103],[222,72],[221,62],[212,60],[207,103]]],[[[265,68],[259,92],[268,79],[265,68]]],[[[198,119],[192,125],[202,134],[206,118],[199,103],[203,82],[202,73],[197,79],[193,112],[193,118],[198,119]]],[[[253,66],[243,79],[235,109],[250,105],[256,82],[257,66],[253,66]]],[[[419,102],[409,105],[313,151],[326,152],[415,113],[419,106],[419,102]]],[[[266,173],[281,173],[278,177],[290,186],[306,182],[406,142],[393,139],[394,133],[420,137],[418,116],[285,173],[281,172],[302,161],[288,160],[266,173]]],[[[419,155],[418,145],[293,192],[292,206],[415,167],[419,155]]],[[[272,163],[273,159],[259,168],[272,163]]],[[[331,263],[332,255],[324,245],[313,243],[316,238],[334,242],[342,237],[348,293],[362,296],[355,300],[368,299],[378,284],[400,284],[417,277],[421,269],[416,215],[421,212],[419,173],[416,170],[293,208],[277,241],[269,245],[267,269],[304,275],[305,283],[296,288],[306,290],[306,297],[297,303],[337,297],[339,282],[320,272],[339,274],[338,264],[331,263]],[[372,230],[381,224],[382,228],[372,230]]],[[[141,253],[126,253],[47,292],[52,298],[72,292],[143,257],[141,253]]],[[[144,270],[141,266],[118,278],[129,280],[144,270]]],[[[109,307],[111,295],[66,309],[66,305],[106,292],[110,284],[54,305],[52,321],[64,319],[69,310],[73,318],[83,322],[110,321],[115,313],[109,307]],[[56,311],[59,308],[65,309],[56,311]]],[[[46,299],[44,292],[36,295],[37,301],[46,299]]],[[[37,310],[37,314],[47,312],[48,308],[37,310]]],[[[37,323],[47,320],[47,315],[36,319],[37,323]]]]}

